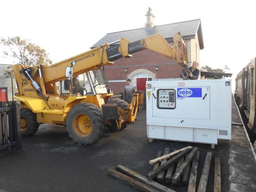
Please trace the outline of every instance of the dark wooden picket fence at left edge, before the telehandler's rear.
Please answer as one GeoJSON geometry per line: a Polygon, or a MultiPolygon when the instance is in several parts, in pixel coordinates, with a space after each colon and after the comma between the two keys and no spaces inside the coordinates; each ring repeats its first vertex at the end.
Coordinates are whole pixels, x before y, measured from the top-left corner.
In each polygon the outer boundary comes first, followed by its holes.
{"type": "Polygon", "coordinates": [[[16,101],[0,102],[0,150],[22,150],[20,105],[16,101]]]}

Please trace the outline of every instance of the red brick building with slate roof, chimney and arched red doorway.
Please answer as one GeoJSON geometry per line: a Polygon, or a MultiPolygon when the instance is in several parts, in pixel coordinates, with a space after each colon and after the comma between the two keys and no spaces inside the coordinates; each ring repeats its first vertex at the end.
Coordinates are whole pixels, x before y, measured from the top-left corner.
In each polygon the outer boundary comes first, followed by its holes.
{"type": "MultiPolygon", "coordinates": [[[[156,26],[154,24],[155,16],[150,8],[145,16],[144,28],[107,33],[91,48],[101,46],[106,42],[117,41],[121,37],[134,42],[156,33],[160,33],[168,43],[173,44],[172,37],[177,32],[181,32],[183,40],[187,43],[188,65],[191,66],[193,60],[197,60],[200,64],[200,50],[204,48],[200,19],[156,26]]],[[[113,91],[123,91],[127,79],[132,79],[132,84],[137,90],[144,90],[147,80],[179,78],[181,66],[164,55],[150,50],[142,50],[134,53],[132,58],[121,58],[111,66],[104,66],[103,70],[110,82],[108,88],[113,91]]]]}

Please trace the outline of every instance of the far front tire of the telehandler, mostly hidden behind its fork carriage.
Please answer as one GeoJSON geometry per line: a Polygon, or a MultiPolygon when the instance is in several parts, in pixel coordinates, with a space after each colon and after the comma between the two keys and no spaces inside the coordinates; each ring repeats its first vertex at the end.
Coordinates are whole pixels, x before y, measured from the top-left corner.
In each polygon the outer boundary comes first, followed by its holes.
{"type": "MultiPolygon", "coordinates": [[[[117,106],[122,108],[124,111],[126,111],[127,105],[128,105],[128,103],[126,101],[119,99],[119,98],[110,99],[107,101],[107,104],[117,104],[117,106]]],[[[110,123],[113,124],[114,126],[107,125],[108,129],[112,132],[118,132],[119,129],[116,126],[116,120],[110,120],[110,123]]],[[[127,127],[126,123],[122,124],[121,130],[125,129],[126,127],[127,127]]]]}

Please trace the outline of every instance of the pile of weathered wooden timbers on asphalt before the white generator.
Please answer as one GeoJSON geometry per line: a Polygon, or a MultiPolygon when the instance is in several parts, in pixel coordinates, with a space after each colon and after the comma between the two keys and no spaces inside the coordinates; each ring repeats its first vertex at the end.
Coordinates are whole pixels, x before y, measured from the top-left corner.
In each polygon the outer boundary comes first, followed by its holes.
{"type": "MultiPolygon", "coordinates": [[[[188,192],[196,191],[196,178],[199,149],[187,146],[180,150],[165,148],[164,154],[159,151],[156,159],[150,160],[154,168],[147,176],[134,172],[127,167],[117,165],[116,170],[109,169],[108,174],[126,182],[140,191],[174,192],[166,184],[186,185],[188,192]]],[[[204,162],[203,172],[199,182],[198,192],[205,192],[207,188],[212,153],[208,152],[204,162]]],[[[214,192],[221,191],[220,158],[215,157],[214,192]]]]}

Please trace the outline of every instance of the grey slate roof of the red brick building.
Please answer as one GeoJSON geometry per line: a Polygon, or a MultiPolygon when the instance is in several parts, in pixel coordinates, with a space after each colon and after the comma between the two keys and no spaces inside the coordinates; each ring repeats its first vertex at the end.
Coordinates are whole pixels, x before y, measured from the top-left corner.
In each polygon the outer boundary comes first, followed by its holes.
{"type": "Polygon", "coordinates": [[[172,37],[179,31],[181,32],[182,38],[184,40],[194,39],[196,38],[196,33],[198,33],[200,49],[204,48],[201,20],[196,19],[191,21],[183,21],[178,23],[154,26],[153,28],[138,28],[134,30],[107,33],[98,42],[96,42],[91,47],[91,49],[101,46],[104,43],[112,43],[119,40],[121,37],[125,37],[130,42],[134,42],[156,33],[160,33],[166,39],[166,41],[172,41],[172,37]]]}

